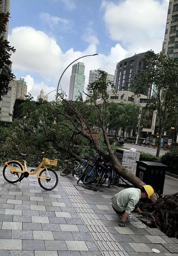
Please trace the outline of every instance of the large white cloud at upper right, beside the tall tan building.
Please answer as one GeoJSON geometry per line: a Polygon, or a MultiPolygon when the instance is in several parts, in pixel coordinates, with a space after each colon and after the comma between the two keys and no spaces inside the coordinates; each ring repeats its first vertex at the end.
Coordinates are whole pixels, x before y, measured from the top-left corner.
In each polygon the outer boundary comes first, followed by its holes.
{"type": "Polygon", "coordinates": [[[132,54],[162,49],[169,0],[102,2],[104,21],[111,39],[132,54]]]}

